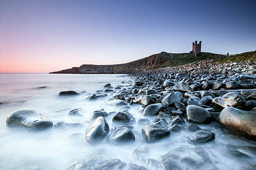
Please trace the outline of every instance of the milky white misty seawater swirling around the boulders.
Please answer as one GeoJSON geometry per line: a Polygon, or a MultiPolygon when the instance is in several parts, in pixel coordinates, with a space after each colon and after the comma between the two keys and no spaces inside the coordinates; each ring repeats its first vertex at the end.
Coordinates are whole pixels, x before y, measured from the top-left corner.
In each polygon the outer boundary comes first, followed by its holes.
{"type": "MultiPolygon", "coordinates": [[[[233,135],[217,122],[210,125],[199,125],[204,130],[215,133],[215,141],[204,145],[191,145],[187,137],[191,133],[182,130],[172,134],[160,142],[146,144],[141,138],[143,125],[133,125],[136,141],[131,145],[110,145],[100,143],[89,146],[84,138],[85,129],[90,125],[93,111],[104,109],[106,112],[117,111],[117,107],[105,104],[111,97],[87,101],[89,93],[103,90],[103,86],[111,83],[115,88],[132,87],[133,79],[124,75],[66,75],[66,74],[0,74],[0,169],[23,170],[40,168],[42,170],[66,170],[77,161],[86,160],[95,155],[107,160],[118,158],[125,163],[136,163],[149,170],[153,167],[145,165],[140,158],[133,155],[136,148],[147,148],[143,159],[158,160],[160,156],[175,148],[186,148],[179,152],[181,157],[188,156],[201,160],[192,148],[202,147],[210,161],[219,169],[238,169],[248,164],[256,164],[256,144],[233,135]],[[121,83],[124,82],[124,83],[121,83]],[[45,87],[44,87],[45,86],[45,87]],[[44,87],[44,88],[39,88],[44,87]],[[61,91],[74,90],[82,92],[77,97],[59,97],[61,91]],[[86,92],[83,92],[86,91],[86,92]],[[51,128],[44,131],[29,131],[23,128],[6,127],[7,116],[18,109],[32,108],[44,117],[56,122],[81,122],[84,127],[51,128]],[[83,110],[84,117],[69,117],[67,113],[76,108],[83,110]]],[[[115,93],[116,94],[116,93],[115,93]]],[[[135,118],[143,118],[137,109],[140,105],[132,105],[129,111],[135,118]]],[[[113,127],[112,116],[106,118],[110,129],[113,127]]],[[[156,117],[146,117],[153,120],[156,117]]],[[[205,167],[204,169],[207,169],[205,167]]]]}

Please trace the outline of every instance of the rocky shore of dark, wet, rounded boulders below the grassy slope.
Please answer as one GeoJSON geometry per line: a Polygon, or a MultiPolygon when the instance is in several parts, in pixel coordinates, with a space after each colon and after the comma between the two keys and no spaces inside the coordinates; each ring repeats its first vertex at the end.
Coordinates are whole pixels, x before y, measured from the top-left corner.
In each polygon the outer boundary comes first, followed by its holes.
{"type": "MultiPolygon", "coordinates": [[[[243,166],[236,169],[255,170],[256,61],[213,62],[196,61],[130,74],[132,80],[128,82],[116,87],[107,84],[94,94],[88,94],[87,102],[103,98],[106,104],[113,106],[113,112],[102,108],[91,113],[90,120],[83,124],[87,145],[108,144],[118,150],[133,145],[136,140],[143,145],[133,150],[133,155],[128,155],[136,163],[102,160],[100,155],[95,155],[74,163],[68,170],[218,170],[218,163],[205,151],[208,145],[221,148],[218,152],[223,157],[243,161],[243,166]],[[143,118],[137,119],[130,112],[133,107],[138,108],[143,118]],[[135,126],[141,127],[139,133],[135,126]],[[170,145],[170,138],[180,137],[189,146],[166,150],[159,159],[150,158],[151,147],[161,142],[170,145]],[[225,142],[228,138],[244,140],[251,146],[232,145],[225,142]]],[[[79,93],[66,91],[59,96],[79,96],[79,93]]],[[[82,117],[79,109],[71,110],[69,115],[82,117]]],[[[8,127],[16,125],[31,130],[58,128],[60,124],[67,128],[73,126],[64,122],[53,125],[51,120],[32,109],[17,110],[6,122],[8,127]]]]}

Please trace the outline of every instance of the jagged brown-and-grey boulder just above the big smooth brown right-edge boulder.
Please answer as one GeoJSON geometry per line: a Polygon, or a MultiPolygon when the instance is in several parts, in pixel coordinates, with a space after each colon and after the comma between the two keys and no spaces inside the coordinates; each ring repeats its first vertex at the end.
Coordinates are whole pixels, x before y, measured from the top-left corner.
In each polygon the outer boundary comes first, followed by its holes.
{"type": "Polygon", "coordinates": [[[246,105],[246,100],[243,96],[239,95],[235,92],[229,92],[221,97],[215,97],[212,100],[212,105],[225,108],[225,107],[236,107],[236,108],[244,108],[246,105]]]}

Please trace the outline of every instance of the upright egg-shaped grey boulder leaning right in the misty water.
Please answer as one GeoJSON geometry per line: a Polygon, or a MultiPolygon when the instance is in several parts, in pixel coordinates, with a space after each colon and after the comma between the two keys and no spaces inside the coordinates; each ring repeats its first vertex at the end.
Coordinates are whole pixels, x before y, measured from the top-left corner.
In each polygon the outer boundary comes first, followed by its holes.
{"type": "Polygon", "coordinates": [[[108,135],[109,126],[104,117],[95,119],[85,134],[85,140],[89,145],[100,143],[108,135]]]}

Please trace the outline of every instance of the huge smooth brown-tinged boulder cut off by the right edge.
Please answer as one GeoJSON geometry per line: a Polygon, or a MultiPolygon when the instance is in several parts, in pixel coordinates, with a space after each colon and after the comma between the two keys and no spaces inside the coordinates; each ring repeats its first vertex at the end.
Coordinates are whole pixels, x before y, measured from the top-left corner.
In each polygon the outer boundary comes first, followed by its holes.
{"type": "Polygon", "coordinates": [[[256,112],[226,107],[220,112],[218,122],[237,135],[256,140],[256,112]]]}

